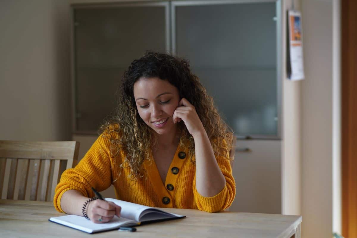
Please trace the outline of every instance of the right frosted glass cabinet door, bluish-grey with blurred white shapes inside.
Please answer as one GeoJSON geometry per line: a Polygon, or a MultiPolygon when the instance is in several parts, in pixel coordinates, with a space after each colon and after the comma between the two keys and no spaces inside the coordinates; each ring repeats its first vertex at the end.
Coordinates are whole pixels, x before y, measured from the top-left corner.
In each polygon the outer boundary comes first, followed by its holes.
{"type": "Polygon", "coordinates": [[[236,135],[278,137],[276,5],[172,3],[174,52],[190,60],[236,135]]]}

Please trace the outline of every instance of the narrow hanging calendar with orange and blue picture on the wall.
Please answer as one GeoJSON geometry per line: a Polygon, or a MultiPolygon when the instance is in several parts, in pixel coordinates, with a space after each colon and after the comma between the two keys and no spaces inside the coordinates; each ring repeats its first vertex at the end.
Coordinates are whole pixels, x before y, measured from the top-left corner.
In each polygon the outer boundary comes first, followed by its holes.
{"type": "Polygon", "coordinates": [[[301,13],[295,10],[287,11],[286,51],[286,70],[288,78],[291,80],[304,79],[301,13]]]}

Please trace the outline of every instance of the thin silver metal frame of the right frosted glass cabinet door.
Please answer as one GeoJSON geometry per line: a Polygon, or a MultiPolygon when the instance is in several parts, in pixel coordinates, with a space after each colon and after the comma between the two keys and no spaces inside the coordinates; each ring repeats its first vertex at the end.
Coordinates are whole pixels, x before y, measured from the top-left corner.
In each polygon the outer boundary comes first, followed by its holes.
{"type": "Polygon", "coordinates": [[[224,4],[242,4],[242,3],[264,3],[264,2],[275,2],[276,7],[276,71],[277,71],[277,135],[235,135],[240,139],[281,139],[281,130],[282,130],[282,49],[283,49],[283,38],[282,38],[282,2],[281,0],[176,0],[171,1],[171,52],[173,55],[176,55],[176,7],[179,6],[205,6],[205,5],[224,5],[224,4]]]}

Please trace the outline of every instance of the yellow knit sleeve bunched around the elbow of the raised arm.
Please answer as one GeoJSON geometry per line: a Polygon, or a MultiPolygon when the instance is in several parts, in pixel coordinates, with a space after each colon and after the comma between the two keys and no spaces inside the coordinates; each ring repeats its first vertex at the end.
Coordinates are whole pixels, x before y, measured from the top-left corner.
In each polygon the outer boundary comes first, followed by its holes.
{"type": "Polygon", "coordinates": [[[224,188],[213,197],[203,197],[196,189],[196,176],[193,179],[193,196],[199,210],[206,212],[220,212],[231,206],[236,196],[236,183],[232,176],[230,161],[224,156],[216,157],[218,166],[226,179],[224,188]]]}

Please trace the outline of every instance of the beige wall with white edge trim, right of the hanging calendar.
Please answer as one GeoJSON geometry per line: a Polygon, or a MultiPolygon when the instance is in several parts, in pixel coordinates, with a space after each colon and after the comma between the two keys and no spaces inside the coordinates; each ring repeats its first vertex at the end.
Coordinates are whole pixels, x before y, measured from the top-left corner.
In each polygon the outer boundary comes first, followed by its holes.
{"type": "MultiPolygon", "coordinates": [[[[306,76],[301,88],[302,237],[332,236],[333,194],[340,187],[337,182],[333,188],[332,183],[333,169],[335,176],[339,173],[340,156],[339,32],[333,28],[339,27],[336,2],[301,1],[306,76]]],[[[334,229],[338,232],[336,202],[334,229]]]]}

